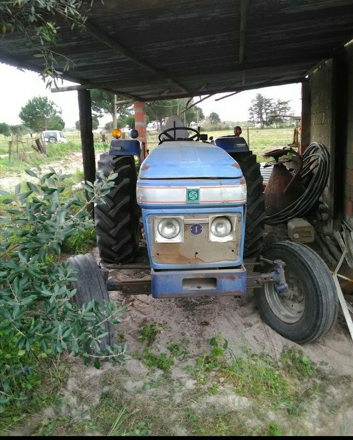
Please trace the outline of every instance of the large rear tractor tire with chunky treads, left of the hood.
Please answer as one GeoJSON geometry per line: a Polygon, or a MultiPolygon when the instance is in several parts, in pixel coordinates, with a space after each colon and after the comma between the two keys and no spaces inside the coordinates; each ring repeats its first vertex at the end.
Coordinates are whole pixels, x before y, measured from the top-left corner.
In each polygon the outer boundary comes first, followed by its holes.
{"type": "Polygon", "coordinates": [[[133,156],[100,155],[97,168],[104,176],[117,173],[115,186],[95,205],[97,245],[109,263],[133,261],[139,243],[139,207],[136,201],[136,166],[133,156]]]}

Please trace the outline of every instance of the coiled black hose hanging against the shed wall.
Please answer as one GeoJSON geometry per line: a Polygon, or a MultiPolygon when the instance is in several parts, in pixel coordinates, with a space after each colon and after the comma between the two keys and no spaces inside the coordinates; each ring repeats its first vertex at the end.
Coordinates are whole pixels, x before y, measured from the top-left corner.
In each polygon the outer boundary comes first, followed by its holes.
{"type": "Polygon", "coordinates": [[[303,168],[300,181],[305,187],[304,193],[289,207],[265,218],[268,225],[278,225],[301,217],[314,207],[324,192],[328,181],[329,154],[324,144],[312,142],[303,154],[303,168]]]}

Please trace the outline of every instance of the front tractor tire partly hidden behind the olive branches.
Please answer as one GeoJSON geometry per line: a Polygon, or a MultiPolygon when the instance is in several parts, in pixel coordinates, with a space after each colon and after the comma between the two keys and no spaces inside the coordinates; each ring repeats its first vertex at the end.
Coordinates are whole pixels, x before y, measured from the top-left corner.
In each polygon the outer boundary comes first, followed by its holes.
{"type": "MultiPolygon", "coordinates": [[[[75,277],[77,281],[72,283],[72,285],[73,288],[76,289],[74,299],[80,307],[92,299],[98,302],[109,301],[108,290],[103,274],[91,254],[81,254],[70,257],[68,262],[77,270],[77,272],[73,274],[73,277],[75,277]]],[[[100,345],[102,349],[104,349],[106,345],[114,345],[113,325],[106,321],[104,323],[104,330],[108,334],[101,338],[100,345]]]]}

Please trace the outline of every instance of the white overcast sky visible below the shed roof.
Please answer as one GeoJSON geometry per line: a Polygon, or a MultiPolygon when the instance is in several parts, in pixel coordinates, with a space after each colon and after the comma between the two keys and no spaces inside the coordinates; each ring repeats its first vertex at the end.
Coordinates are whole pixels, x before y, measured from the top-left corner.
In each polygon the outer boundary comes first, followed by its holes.
{"type": "MultiPolygon", "coordinates": [[[[64,81],[64,85],[70,84],[64,81]]],[[[301,114],[301,84],[245,91],[218,102],[214,100],[226,94],[215,95],[203,101],[200,107],[205,116],[215,111],[222,121],[246,121],[249,118],[248,108],[251,101],[259,92],[268,98],[290,100],[295,115],[301,114]]],[[[77,92],[51,93],[45,88],[45,83],[38,74],[29,71],[22,72],[15,67],[0,63],[0,122],[10,125],[21,124],[18,117],[20,109],[34,96],[48,96],[61,107],[66,128],[75,126],[75,121],[78,119],[77,92]]],[[[109,116],[102,118],[100,126],[109,122],[110,119],[109,116]]]]}

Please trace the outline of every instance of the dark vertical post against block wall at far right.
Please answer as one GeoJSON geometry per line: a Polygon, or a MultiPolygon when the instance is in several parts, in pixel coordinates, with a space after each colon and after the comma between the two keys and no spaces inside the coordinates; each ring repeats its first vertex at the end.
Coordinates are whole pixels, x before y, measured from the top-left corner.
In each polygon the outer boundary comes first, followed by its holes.
{"type": "Polygon", "coordinates": [[[345,156],[348,123],[347,52],[343,47],[332,59],[331,150],[328,176],[328,225],[341,229],[344,207],[345,156]]]}

